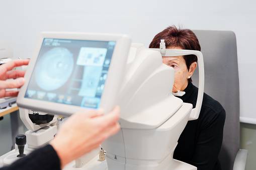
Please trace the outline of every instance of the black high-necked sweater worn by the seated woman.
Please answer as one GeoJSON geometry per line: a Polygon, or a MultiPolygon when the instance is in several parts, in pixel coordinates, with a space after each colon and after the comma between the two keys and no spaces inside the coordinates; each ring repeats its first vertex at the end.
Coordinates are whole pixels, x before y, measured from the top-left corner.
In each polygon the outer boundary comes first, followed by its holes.
{"type": "MultiPolygon", "coordinates": [[[[198,88],[189,83],[184,91],[186,94],[179,98],[195,108],[198,88]]],[[[204,93],[199,118],[188,121],[178,140],[174,158],[192,164],[198,170],[221,169],[218,155],[225,117],[221,104],[204,93]]]]}

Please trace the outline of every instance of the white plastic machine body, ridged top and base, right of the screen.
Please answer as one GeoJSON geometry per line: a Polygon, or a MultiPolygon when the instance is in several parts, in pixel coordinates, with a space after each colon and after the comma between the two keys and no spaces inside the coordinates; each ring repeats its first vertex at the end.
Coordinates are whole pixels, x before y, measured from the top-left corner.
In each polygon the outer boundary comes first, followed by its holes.
{"type": "Polygon", "coordinates": [[[174,70],[161,54],[132,44],[118,97],[121,130],[102,144],[108,169],[196,169],[173,159],[192,110],[172,94],[173,85],[174,70]]]}

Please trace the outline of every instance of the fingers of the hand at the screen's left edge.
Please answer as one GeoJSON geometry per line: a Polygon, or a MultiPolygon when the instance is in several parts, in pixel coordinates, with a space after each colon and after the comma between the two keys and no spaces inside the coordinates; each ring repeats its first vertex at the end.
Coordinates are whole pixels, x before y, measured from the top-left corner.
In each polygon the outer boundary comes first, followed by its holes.
{"type": "Polygon", "coordinates": [[[20,88],[24,83],[25,71],[12,70],[15,67],[28,65],[29,59],[12,60],[0,66],[0,98],[2,97],[16,97],[18,91],[6,91],[6,89],[20,88]],[[14,79],[6,81],[7,79],[14,79]]]}

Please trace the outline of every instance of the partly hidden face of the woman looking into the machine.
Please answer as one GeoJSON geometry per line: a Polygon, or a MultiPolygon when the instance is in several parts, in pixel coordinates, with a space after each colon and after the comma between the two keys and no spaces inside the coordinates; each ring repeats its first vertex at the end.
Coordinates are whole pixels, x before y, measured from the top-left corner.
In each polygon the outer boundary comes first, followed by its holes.
{"type": "MultiPolygon", "coordinates": [[[[180,49],[180,47],[170,47],[167,49],[180,49]]],[[[196,68],[196,62],[192,63],[190,66],[190,70],[188,70],[186,61],[183,56],[177,57],[162,57],[162,63],[173,67],[175,71],[175,80],[173,92],[178,92],[178,90],[183,91],[188,86],[188,76],[192,76],[194,70],[196,68]]]]}

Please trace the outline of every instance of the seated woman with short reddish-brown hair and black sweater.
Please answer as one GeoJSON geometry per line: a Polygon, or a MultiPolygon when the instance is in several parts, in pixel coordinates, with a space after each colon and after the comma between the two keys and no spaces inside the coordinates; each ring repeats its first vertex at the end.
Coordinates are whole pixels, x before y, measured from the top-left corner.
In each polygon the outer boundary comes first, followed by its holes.
{"type": "MultiPolygon", "coordinates": [[[[196,35],[188,29],[168,27],[158,33],[149,48],[159,48],[164,39],[166,49],[201,50],[196,35]]],[[[196,106],[198,88],[192,84],[192,75],[197,67],[194,55],[162,57],[162,62],[173,67],[175,82],[173,92],[185,91],[179,97],[196,106]]],[[[198,169],[221,169],[218,160],[223,138],[225,110],[221,104],[204,93],[199,118],[187,123],[174,152],[174,158],[196,166],[198,169]]]]}

